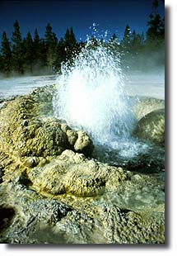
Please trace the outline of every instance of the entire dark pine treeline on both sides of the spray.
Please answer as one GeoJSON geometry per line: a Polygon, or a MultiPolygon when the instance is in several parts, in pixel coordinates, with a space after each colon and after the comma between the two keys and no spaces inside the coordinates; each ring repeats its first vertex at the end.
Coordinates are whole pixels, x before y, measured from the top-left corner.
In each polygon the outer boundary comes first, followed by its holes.
{"type": "MultiPolygon", "coordinates": [[[[151,14],[147,21],[147,32],[144,35],[131,31],[125,27],[123,39],[119,42],[114,34],[104,42],[121,56],[123,69],[153,69],[165,63],[165,18],[158,13],[158,1],[152,2],[151,14]]],[[[93,44],[96,45],[94,37],[93,44]]],[[[5,76],[11,74],[40,74],[56,73],[61,64],[70,61],[85,46],[84,42],[77,42],[72,27],[67,29],[63,38],[58,40],[48,24],[45,27],[44,38],[40,38],[37,29],[31,36],[30,31],[22,39],[20,25],[15,21],[11,41],[5,31],[2,33],[0,51],[0,73],[5,76]]]]}

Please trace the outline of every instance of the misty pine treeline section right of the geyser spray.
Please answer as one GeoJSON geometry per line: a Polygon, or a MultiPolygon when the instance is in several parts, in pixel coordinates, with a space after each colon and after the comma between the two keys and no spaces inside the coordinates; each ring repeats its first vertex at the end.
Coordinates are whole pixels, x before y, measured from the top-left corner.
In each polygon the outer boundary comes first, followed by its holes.
{"type": "MultiPolygon", "coordinates": [[[[153,70],[165,66],[165,17],[158,12],[158,1],[154,0],[147,21],[147,32],[137,34],[125,27],[120,44],[114,34],[111,41],[121,55],[123,69],[153,70]]],[[[115,50],[115,51],[116,51],[115,50]]]]}

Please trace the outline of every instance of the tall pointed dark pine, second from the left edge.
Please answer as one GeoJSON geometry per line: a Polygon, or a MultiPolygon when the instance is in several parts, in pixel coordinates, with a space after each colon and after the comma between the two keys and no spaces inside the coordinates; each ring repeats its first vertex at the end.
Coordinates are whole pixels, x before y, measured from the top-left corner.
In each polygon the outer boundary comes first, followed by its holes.
{"type": "Polygon", "coordinates": [[[22,45],[21,32],[20,32],[20,26],[18,21],[15,21],[13,27],[14,27],[14,31],[12,32],[12,42],[13,42],[12,67],[15,72],[24,73],[24,69],[23,69],[24,49],[22,45]]]}

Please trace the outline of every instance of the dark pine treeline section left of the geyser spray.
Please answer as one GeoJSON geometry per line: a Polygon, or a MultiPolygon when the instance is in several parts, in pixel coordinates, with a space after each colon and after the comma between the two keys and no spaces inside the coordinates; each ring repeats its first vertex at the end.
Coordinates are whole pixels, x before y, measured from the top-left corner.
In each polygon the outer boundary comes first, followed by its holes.
{"type": "Polygon", "coordinates": [[[5,31],[2,33],[0,55],[0,72],[5,75],[17,73],[54,73],[60,69],[62,62],[72,59],[81,44],[77,43],[72,27],[67,29],[64,38],[58,40],[48,24],[45,28],[44,39],[40,38],[37,29],[32,37],[28,31],[22,39],[19,22],[15,21],[12,40],[8,40],[5,31]]]}

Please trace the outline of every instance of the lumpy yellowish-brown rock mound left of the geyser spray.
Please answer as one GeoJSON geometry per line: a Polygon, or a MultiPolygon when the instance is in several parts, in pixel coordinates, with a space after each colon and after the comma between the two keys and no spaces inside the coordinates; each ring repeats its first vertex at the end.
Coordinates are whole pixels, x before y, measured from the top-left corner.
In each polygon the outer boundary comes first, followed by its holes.
{"type": "Polygon", "coordinates": [[[20,156],[46,157],[61,154],[69,148],[67,135],[56,119],[41,121],[35,117],[35,112],[30,114],[28,108],[34,107],[32,103],[28,98],[21,97],[3,109],[0,138],[2,151],[20,156]],[[7,120],[5,116],[8,116],[7,120]]]}

